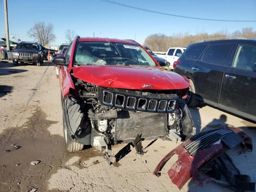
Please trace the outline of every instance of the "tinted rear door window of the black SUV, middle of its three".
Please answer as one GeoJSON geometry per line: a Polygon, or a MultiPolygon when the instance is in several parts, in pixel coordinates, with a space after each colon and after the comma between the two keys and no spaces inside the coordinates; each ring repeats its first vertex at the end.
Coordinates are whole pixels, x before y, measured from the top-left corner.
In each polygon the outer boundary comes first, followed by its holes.
{"type": "Polygon", "coordinates": [[[212,44],[208,47],[202,58],[203,62],[225,65],[232,44],[212,44]]]}

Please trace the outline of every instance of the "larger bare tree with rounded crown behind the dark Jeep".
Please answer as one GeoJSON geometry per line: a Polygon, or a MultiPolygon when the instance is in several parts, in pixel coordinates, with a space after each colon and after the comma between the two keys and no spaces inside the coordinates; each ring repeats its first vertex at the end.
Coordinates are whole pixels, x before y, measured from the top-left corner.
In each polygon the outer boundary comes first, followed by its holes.
{"type": "Polygon", "coordinates": [[[56,36],[53,31],[52,23],[45,24],[44,21],[35,23],[32,28],[27,32],[29,37],[35,38],[40,44],[48,45],[54,41],[56,36]]]}

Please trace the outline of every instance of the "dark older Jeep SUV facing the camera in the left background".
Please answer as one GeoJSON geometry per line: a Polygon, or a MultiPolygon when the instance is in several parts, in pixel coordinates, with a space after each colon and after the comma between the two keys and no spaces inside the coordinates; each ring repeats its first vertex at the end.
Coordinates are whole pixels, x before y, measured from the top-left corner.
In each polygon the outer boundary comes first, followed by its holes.
{"type": "Polygon", "coordinates": [[[43,54],[42,46],[39,43],[22,41],[12,52],[12,62],[14,65],[18,65],[18,62],[28,62],[40,66],[44,62],[43,54]]]}

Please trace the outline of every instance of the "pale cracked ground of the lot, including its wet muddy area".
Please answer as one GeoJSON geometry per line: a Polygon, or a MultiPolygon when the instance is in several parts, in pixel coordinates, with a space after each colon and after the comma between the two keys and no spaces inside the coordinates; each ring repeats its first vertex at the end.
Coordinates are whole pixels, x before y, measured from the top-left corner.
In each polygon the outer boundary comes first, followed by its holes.
{"type": "MultiPolygon", "coordinates": [[[[190,110],[198,130],[232,124],[245,130],[256,144],[253,122],[204,104],[190,110]]],[[[0,62],[0,191],[25,192],[32,187],[39,192],[179,191],[167,174],[176,156],[168,161],[159,178],[152,174],[158,162],[178,144],[157,140],[143,156],[132,146],[116,145],[112,150],[116,163],[109,166],[95,148],[65,152],[62,132],[60,88],[54,66],[50,62],[43,66],[0,62]],[[125,146],[127,154],[120,157],[125,146]],[[41,162],[33,166],[30,162],[34,160],[41,162]]],[[[150,141],[142,144],[145,147],[150,141]]],[[[241,173],[249,174],[256,182],[256,152],[238,156],[237,150],[228,154],[241,173]]],[[[190,180],[181,191],[230,190],[216,184],[201,187],[190,180]]]]}

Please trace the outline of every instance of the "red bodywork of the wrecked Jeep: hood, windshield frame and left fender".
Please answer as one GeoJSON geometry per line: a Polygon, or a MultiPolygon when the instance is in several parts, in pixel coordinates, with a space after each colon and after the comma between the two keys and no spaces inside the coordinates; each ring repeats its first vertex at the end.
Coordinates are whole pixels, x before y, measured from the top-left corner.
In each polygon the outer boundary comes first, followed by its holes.
{"type": "MultiPolygon", "coordinates": [[[[70,45],[72,49],[68,67],[61,67],[59,71],[60,86],[63,98],[69,93],[69,89],[74,89],[74,83],[71,79],[70,72],[74,72],[74,76],[85,82],[96,84],[103,87],[126,88],[126,89],[148,89],[142,88],[144,84],[153,85],[151,89],[157,90],[173,90],[186,89],[189,87],[187,78],[180,76],[174,72],[168,72],[158,68],[158,62],[154,60],[156,66],[78,66],[73,67],[73,58],[77,42],[113,42],[139,45],[147,53],[148,51],[137,42],[129,40],[118,40],[110,38],[75,38],[70,45]]],[[[67,50],[68,52],[68,50],[67,50]]],[[[66,54],[67,54],[66,52],[66,54]]]]}

